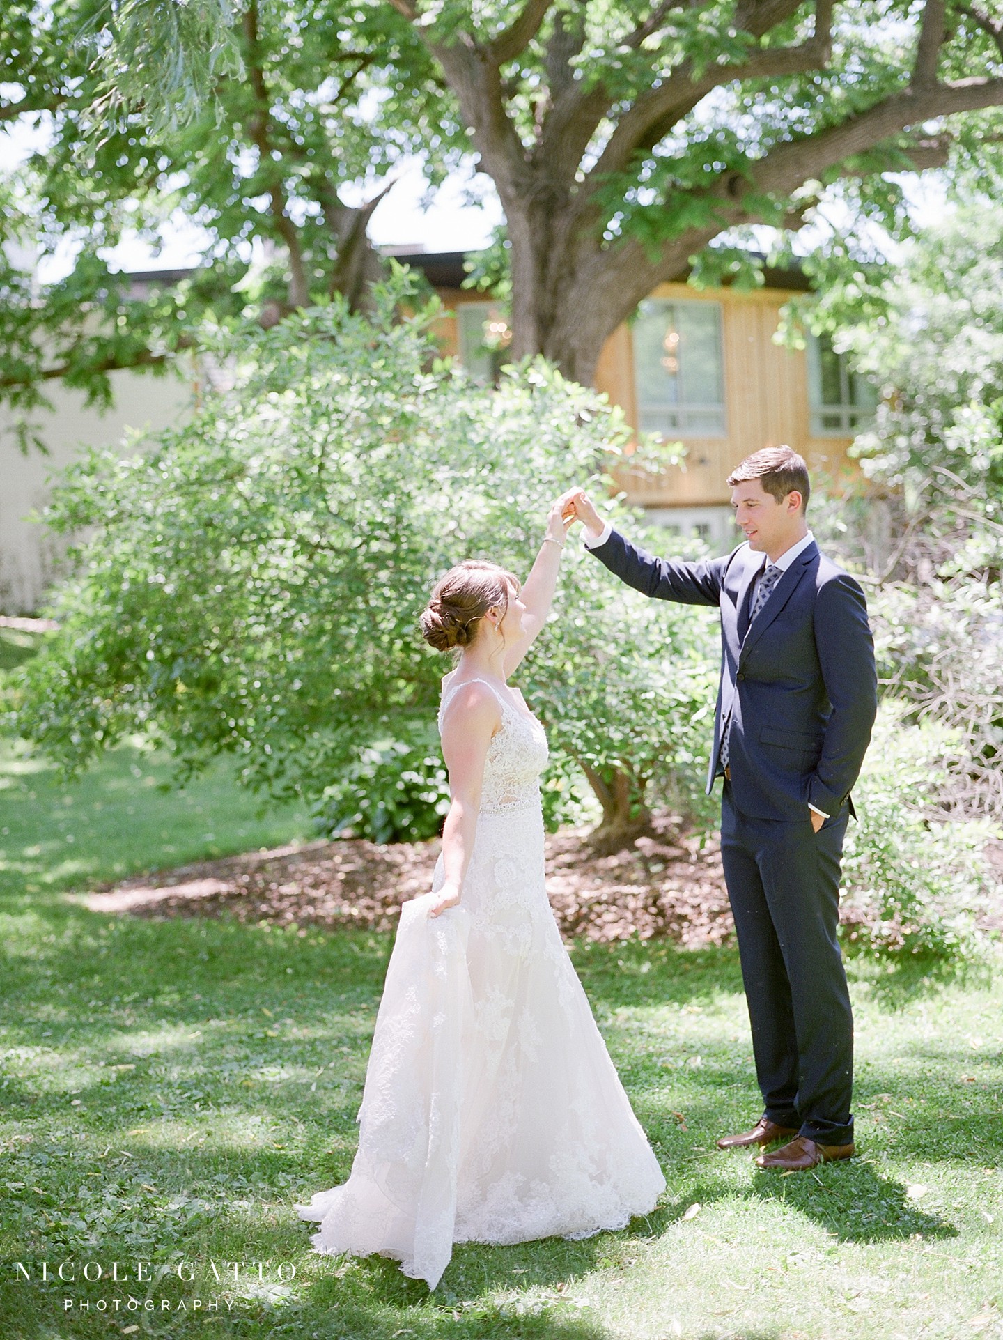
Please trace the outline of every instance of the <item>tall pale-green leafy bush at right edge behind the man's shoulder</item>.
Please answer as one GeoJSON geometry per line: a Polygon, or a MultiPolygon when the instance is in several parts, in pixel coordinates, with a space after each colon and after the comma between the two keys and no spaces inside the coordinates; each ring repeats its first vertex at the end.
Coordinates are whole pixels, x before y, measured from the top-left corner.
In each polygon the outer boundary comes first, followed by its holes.
{"type": "MultiPolygon", "coordinates": [[[[943,804],[1003,820],[1003,220],[994,205],[920,234],[837,343],[881,390],[854,442],[866,486],[830,508],[872,578],[880,673],[953,729],[943,804]]],[[[822,297],[822,310],[826,297],[822,297]]],[[[825,521],[824,521],[825,525],[825,521]]],[[[947,812],[947,811],[945,811],[947,812]]]]}

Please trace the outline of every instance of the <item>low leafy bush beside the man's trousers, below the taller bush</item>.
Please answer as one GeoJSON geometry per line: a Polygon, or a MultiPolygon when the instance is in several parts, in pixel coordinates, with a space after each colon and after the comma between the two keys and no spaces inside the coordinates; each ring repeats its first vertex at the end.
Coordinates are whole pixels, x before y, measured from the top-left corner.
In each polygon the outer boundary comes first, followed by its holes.
{"type": "Polygon", "coordinates": [[[842,863],[850,945],[889,958],[966,954],[979,913],[1003,898],[984,854],[999,829],[943,817],[943,758],[956,748],[948,728],[909,725],[907,705],[882,704],[842,863]]]}

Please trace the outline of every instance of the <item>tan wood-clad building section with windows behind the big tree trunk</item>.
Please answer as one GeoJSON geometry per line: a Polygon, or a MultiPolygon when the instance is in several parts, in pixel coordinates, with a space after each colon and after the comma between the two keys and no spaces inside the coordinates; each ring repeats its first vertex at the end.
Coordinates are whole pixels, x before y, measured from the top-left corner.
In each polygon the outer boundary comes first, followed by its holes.
{"type": "MultiPolygon", "coordinates": [[[[438,331],[443,348],[491,379],[505,359],[504,348],[490,347],[504,338],[504,314],[461,288],[462,253],[402,259],[425,271],[450,310],[438,331]]],[[[765,287],[751,292],[662,284],[607,340],[597,389],[635,427],[686,448],[679,466],[620,473],[631,501],[660,523],[728,548],[724,481],[762,446],[786,442],[818,474],[850,468],[848,448],[874,405],[870,386],[825,340],[797,351],[773,338],[782,306],[806,289],[798,271],[767,271],[765,287]]]]}

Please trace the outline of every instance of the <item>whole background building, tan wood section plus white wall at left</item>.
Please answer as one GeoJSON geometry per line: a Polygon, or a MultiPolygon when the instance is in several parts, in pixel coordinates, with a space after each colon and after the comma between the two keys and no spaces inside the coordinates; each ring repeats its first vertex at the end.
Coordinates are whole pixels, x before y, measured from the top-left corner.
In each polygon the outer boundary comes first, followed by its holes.
{"type": "MultiPolygon", "coordinates": [[[[423,271],[439,293],[447,310],[437,331],[443,352],[455,354],[490,382],[506,356],[505,318],[495,303],[462,287],[463,252],[394,255],[423,271]]],[[[141,292],[186,273],[131,277],[141,292]]],[[[662,473],[621,472],[629,498],[659,523],[699,535],[719,552],[735,541],[724,480],[743,456],[787,442],[813,470],[838,474],[848,468],[846,449],[873,406],[869,386],[832,347],[812,342],[794,352],[774,343],[781,307],[806,288],[797,271],[767,272],[766,285],[754,292],[663,284],[641,303],[633,322],[611,335],[599,362],[597,387],[623,407],[629,423],[686,448],[683,464],[662,473]]],[[[51,477],[82,446],[122,445],[129,429],[157,431],[191,401],[183,375],[150,381],[122,371],[112,373],[112,381],[115,407],[104,415],[87,410],[80,391],[66,386],[50,391],[54,411],[43,415],[42,425],[47,457],[21,456],[9,434],[11,415],[0,413],[3,612],[37,608],[59,570],[60,547],[28,519],[44,508],[51,477]]]]}

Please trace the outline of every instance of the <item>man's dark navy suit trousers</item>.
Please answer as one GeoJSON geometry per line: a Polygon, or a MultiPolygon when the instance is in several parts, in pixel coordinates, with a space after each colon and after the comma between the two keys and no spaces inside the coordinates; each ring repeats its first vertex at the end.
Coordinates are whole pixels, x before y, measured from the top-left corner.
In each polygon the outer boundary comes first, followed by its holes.
{"type": "Polygon", "coordinates": [[[836,938],[848,805],[754,819],[724,783],[720,852],[742,961],[765,1115],[822,1144],[853,1140],[853,1014],[836,938]]]}

